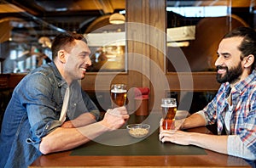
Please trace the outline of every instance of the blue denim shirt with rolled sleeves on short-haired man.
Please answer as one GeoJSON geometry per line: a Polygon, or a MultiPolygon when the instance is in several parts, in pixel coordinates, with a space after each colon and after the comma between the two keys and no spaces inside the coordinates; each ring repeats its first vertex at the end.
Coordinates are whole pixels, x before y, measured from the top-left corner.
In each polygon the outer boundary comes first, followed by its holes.
{"type": "MultiPolygon", "coordinates": [[[[27,167],[38,156],[41,138],[61,126],[59,120],[67,82],[54,63],[26,75],[15,87],[3,117],[0,135],[0,167],[27,167]]],[[[99,110],[82,91],[79,81],[70,86],[67,119],[84,112],[99,119],[99,110]]]]}

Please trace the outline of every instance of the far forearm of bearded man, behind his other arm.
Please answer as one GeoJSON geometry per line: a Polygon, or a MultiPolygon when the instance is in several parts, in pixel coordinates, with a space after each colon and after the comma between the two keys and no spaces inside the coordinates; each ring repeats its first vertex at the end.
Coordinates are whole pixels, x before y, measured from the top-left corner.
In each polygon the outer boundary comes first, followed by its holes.
{"type": "Polygon", "coordinates": [[[188,118],[186,118],[183,122],[183,125],[181,126],[181,129],[188,129],[193,128],[197,126],[206,126],[207,121],[206,119],[197,113],[190,115],[188,118]]]}

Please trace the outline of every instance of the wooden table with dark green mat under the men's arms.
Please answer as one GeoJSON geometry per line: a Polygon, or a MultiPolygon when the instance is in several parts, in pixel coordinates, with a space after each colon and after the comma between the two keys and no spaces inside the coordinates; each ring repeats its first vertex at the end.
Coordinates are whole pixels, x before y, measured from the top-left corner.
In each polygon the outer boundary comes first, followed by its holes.
{"type": "MultiPolygon", "coordinates": [[[[108,142],[109,138],[120,143],[134,141],[125,129],[118,131],[105,136],[102,142],[108,142]]],[[[188,132],[212,133],[207,127],[188,132]]],[[[159,130],[155,129],[137,143],[120,146],[90,141],[69,151],[42,155],[30,167],[251,167],[241,158],[192,145],[160,143],[158,135],[159,130]]]]}

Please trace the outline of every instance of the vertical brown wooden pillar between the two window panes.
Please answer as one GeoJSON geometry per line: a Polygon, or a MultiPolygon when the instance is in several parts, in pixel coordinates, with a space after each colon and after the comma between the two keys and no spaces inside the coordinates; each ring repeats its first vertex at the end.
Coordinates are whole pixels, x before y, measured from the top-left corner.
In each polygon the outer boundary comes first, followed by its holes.
{"type": "Polygon", "coordinates": [[[149,87],[152,105],[166,93],[158,82],[165,76],[166,1],[126,1],[126,21],[129,82],[132,87],[149,87]]]}

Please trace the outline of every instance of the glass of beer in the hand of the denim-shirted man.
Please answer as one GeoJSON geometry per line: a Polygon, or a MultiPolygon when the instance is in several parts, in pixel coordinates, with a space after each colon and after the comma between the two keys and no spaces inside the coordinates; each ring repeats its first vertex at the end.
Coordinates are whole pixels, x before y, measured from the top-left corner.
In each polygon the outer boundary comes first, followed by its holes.
{"type": "Polygon", "coordinates": [[[126,104],[127,90],[125,84],[111,85],[112,109],[126,104]]]}

